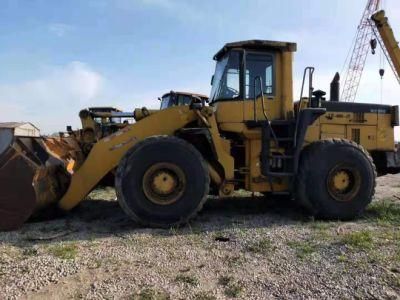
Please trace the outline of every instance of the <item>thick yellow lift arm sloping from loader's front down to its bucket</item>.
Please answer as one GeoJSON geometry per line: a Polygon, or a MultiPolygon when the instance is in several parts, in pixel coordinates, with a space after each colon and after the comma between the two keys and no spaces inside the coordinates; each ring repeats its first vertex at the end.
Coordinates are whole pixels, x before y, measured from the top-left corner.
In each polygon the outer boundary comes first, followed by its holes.
{"type": "Polygon", "coordinates": [[[176,130],[196,119],[195,112],[189,107],[175,107],[168,112],[160,111],[150,115],[100,140],[73,174],[68,190],[59,202],[60,208],[74,208],[108,172],[118,166],[124,154],[137,142],[154,135],[173,135],[176,130]]]}

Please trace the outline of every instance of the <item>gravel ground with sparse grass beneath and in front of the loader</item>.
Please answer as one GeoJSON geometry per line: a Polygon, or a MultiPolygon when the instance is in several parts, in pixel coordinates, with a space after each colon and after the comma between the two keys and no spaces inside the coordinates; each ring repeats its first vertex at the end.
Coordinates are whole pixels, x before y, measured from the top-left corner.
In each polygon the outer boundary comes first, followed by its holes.
{"type": "Polygon", "coordinates": [[[67,216],[0,233],[6,299],[400,299],[400,175],[354,222],[279,199],[210,199],[183,228],[140,228],[96,190],[67,216]]]}

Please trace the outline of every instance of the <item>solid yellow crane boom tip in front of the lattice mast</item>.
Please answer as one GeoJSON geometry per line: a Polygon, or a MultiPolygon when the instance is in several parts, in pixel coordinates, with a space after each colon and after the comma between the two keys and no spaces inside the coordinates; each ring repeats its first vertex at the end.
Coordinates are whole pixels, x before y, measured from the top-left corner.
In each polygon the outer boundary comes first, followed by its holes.
{"type": "Polygon", "coordinates": [[[397,81],[400,83],[400,48],[394,37],[392,27],[385,16],[385,11],[380,10],[371,16],[375,26],[373,32],[378,40],[383,53],[392,68],[397,81]]]}

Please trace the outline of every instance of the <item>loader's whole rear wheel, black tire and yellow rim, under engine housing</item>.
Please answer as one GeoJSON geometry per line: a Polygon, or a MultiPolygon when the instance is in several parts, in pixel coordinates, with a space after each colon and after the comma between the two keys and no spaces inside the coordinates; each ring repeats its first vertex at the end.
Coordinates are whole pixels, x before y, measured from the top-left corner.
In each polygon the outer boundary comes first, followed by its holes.
{"type": "Polygon", "coordinates": [[[296,184],[296,201],[324,219],[359,216],[375,192],[376,169],[361,145],[329,139],[304,148],[296,184]]]}

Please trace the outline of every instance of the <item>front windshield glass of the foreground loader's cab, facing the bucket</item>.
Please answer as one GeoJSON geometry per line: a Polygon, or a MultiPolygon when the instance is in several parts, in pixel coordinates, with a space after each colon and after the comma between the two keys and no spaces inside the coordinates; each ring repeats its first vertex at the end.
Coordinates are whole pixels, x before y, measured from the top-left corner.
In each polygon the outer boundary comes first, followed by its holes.
{"type": "Polygon", "coordinates": [[[240,90],[240,53],[230,52],[217,62],[210,100],[234,99],[240,90]]]}

